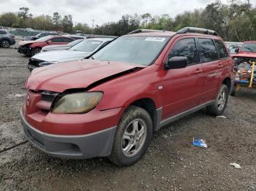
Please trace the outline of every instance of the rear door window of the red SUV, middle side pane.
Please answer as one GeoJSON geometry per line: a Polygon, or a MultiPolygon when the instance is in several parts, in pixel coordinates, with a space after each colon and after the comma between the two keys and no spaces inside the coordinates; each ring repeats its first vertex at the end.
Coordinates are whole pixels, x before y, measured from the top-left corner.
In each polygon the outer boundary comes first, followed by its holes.
{"type": "Polygon", "coordinates": [[[212,39],[198,39],[201,62],[211,62],[218,59],[218,53],[212,39]]]}

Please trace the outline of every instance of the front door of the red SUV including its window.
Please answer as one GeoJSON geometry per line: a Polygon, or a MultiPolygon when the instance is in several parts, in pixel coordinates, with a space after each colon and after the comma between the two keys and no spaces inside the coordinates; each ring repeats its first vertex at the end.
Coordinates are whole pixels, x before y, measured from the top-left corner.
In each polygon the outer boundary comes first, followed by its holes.
{"type": "Polygon", "coordinates": [[[203,67],[200,64],[195,38],[181,37],[173,44],[168,58],[186,56],[189,65],[184,69],[165,71],[165,76],[162,77],[163,119],[198,106],[204,83],[203,67]]]}

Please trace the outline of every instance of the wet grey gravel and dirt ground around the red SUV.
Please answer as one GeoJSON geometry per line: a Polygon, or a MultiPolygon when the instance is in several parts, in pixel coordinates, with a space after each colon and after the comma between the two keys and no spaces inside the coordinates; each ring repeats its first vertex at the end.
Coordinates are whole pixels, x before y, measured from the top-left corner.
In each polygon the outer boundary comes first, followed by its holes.
{"type": "Polygon", "coordinates": [[[0,49],[0,190],[256,190],[255,90],[230,98],[227,119],[200,111],[167,125],[142,160],[118,168],[105,158],[49,157],[23,142],[19,109],[28,60],[0,49]],[[193,147],[196,136],[208,148],[193,147]]]}

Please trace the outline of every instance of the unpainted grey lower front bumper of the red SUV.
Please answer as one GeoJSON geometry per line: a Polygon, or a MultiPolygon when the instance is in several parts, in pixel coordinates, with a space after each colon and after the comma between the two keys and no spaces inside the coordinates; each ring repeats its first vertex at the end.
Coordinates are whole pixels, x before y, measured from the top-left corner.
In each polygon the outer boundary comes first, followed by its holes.
{"type": "Polygon", "coordinates": [[[110,155],[116,126],[79,136],[62,136],[44,133],[32,127],[20,110],[24,134],[31,144],[55,157],[91,158],[110,155]]]}

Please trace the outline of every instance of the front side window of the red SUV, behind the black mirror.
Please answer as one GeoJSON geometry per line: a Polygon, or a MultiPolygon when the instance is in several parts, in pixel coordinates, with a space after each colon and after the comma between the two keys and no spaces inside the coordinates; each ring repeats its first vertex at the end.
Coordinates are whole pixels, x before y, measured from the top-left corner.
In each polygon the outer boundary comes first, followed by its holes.
{"type": "Polygon", "coordinates": [[[197,48],[195,45],[195,39],[181,39],[174,45],[170,51],[169,58],[174,56],[186,56],[189,64],[198,63],[197,48]]]}

